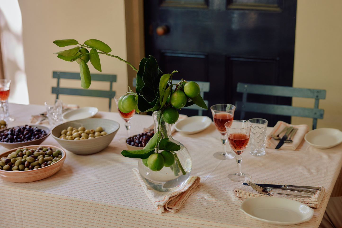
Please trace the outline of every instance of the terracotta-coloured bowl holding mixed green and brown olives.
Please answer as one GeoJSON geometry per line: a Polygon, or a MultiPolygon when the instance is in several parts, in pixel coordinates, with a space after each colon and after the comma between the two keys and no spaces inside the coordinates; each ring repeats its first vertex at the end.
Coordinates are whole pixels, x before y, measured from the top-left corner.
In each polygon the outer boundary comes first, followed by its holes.
{"type": "Polygon", "coordinates": [[[14,149],[1,153],[0,158],[7,157],[7,155],[9,155],[12,152],[15,152],[19,148],[27,147],[28,149],[37,149],[39,146],[51,147],[53,149],[61,150],[62,158],[51,165],[47,165],[45,167],[35,169],[35,170],[17,171],[17,172],[0,170],[0,178],[9,182],[16,182],[16,183],[34,182],[37,180],[47,178],[55,174],[58,170],[60,170],[64,164],[66,155],[63,149],[56,147],[56,146],[51,146],[51,145],[22,146],[22,147],[14,148],[14,149]]]}

